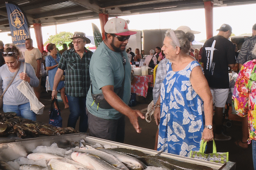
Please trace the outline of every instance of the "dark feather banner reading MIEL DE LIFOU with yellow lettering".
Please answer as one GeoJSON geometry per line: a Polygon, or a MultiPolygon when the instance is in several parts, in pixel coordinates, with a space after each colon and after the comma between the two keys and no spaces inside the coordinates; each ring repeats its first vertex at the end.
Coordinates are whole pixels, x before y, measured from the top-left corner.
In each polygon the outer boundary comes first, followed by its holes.
{"type": "Polygon", "coordinates": [[[23,10],[13,2],[6,2],[9,26],[12,34],[12,43],[15,44],[24,56],[25,40],[30,37],[28,20],[23,10]]]}

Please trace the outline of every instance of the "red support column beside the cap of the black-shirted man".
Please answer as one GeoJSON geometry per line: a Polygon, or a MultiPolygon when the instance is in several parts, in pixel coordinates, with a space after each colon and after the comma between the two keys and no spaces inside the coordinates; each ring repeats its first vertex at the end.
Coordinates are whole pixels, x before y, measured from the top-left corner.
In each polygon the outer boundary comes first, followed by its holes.
{"type": "Polygon", "coordinates": [[[213,36],[213,2],[204,2],[206,37],[207,40],[213,36]]]}

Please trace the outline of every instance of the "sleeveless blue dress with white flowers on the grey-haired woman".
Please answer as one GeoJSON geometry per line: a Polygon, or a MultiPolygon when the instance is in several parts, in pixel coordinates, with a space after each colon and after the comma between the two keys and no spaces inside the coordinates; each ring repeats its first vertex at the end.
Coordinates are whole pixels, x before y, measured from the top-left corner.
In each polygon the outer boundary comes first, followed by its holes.
{"type": "Polygon", "coordinates": [[[166,77],[161,86],[161,115],[157,150],[180,156],[189,156],[190,150],[199,150],[204,130],[204,108],[200,96],[190,82],[193,68],[201,65],[190,62],[181,71],[172,71],[166,65],[166,77]]]}

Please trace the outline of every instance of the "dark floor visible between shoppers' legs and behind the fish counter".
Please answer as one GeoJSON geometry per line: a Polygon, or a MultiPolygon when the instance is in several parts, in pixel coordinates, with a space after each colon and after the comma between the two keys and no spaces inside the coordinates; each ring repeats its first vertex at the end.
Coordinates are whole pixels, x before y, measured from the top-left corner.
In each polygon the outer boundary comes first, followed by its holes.
{"type": "MultiPolygon", "coordinates": [[[[150,95],[150,94],[149,94],[150,95]]],[[[151,99],[137,98],[139,100],[138,104],[133,109],[143,110],[147,108],[149,101],[151,99]]],[[[49,93],[41,94],[41,102],[45,105],[44,114],[38,115],[37,120],[40,122],[48,123],[49,122],[49,108],[51,105],[51,91],[49,93]]],[[[64,109],[63,102],[59,102],[59,105],[62,109],[61,117],[63,119],[63,127],[67,127],[67,119],[69,116],[69,109],[64,109]]],[[[2,111],[2,110],[1,110],[2,111]]],[[[0,111],[0,112],[1,112],[0,111]]],[[[145,113],[145,112],[143,112],[145,113]]],[[[157,131],[157,125],[154,122],[152,117],[150,123],[145,120],[139,119],[139,124],[142,127],[142,132],[137,133],[134,130],[134,127],[129,122],[129,119],[125,119],[125,141],[126,144],[131,144],[139,147],[145,147],[149,149],[154,149],[155,143],[155,134],[157,131]]],[[[76,130],[79,127],[79,121],[76,125],[76,130]]],[[[253,170],[253,160],[252,160],[252,148],[251,144],[247,150],[237,147],[234,142],[241,139],[241,122],[232,121],[232,126],[226,128],[226,134],[232,136],[232,139],[227,142],[218,142],[216,141],[217,152],[229,152],[230,161],[236,162],[236,170],[253,170]]],[[[210,144],[207,150],[212,150],[210,144]]],[[[209,151],[210,152],[210,151],[209,151]]]]}

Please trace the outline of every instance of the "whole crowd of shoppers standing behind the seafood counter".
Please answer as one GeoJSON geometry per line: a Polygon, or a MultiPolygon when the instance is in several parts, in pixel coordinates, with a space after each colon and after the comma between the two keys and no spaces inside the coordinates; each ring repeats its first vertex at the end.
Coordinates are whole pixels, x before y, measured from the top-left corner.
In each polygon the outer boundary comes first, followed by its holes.
{"type": "MultiPolygon", "coordinates": [[[[63,44],[64,49],[59,53],[56,45],[50,43],[47,45],[49,55],[45,58],[45,68],[52,99],[57,98],[57,91],[60,91],[64,108],[70,109],[67,126],[75,128],[80,117],[80,132],[88,131],[91,136],[123,142],[125,116],[137,133],[141,132],[138,117],[145,118],[140,111],[128,106],[131,95],[130,62],[145,58],[145,64],[150,65],[152,60],[154,66],[159,63],[153,91],[154,117],[159,125],[156,148],[188,156],[190,150],[199,150],[201,140],[231,139],[222,131],[222,118],[229,93],[228,73],[237,62],[241,70],[233,103],[237,114],[246,117],[243,128],[249,125],[249,133],[243,129],[244,136],[236,144],[247,148],[250,142],[253,143],[256,167],[253,123],[256,25],[253,26],[253,37],[244,42],[237,60],[234,45],[228,40],[232,33],[228,24],[223,24],[217,30],[218,34],[204,43],[201,53],[195,49],[193,55],[191,42],[195,39],[194,34],[199,32],[187,26],[182,28],[166,31],[162,48],[157,46],[155,50],[151,49],[148,56],[144,51],[140,53],[139,48],[136,48],[135,54],[131,48],[125,49],[128,39],[136,31],[129,31],[128,23],[118,17],[108,20],[104,27],[106,38],[94,53],[84,47],[90,40],[83,32],[75,32],[72,44],[63,44]],[[64,75],[65,82],[62,79],[64,75]],[[96,100],[98,96],[101,97],[100,102],[96,100]]],[[[25,62],[21,62],[20,51],[15,45],[6,44],[4,47],[0,42],[0,85],[1,91],[6,90],[3,111],[13,111],[18,116],[36,120],[35,113],[30,111],[29,100],[16,87],[23,80],[29,82],[40,99],[44,56],[33,47],[32,39],[26,39],[25,45],[25,62]],[[26,73],[23,73],[24,65],[26,73]],[[8,87],[12,77],[15,78],[8,87]]]]}

